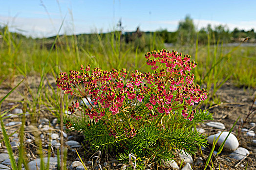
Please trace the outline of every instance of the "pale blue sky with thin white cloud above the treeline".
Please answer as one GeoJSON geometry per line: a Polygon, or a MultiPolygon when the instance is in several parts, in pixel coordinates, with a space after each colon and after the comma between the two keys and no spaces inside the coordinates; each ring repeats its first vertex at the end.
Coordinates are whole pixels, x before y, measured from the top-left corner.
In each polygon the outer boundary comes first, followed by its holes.
{"type": "Polygon", "coordinates": [[[1,0],[0,25],[33,37],[125,31],[175,31],[190,15],[197,29],[222,24],[256,30],[256,0],[1,0]],[[47,11],[47,12],[46,12],[47,11]]]}

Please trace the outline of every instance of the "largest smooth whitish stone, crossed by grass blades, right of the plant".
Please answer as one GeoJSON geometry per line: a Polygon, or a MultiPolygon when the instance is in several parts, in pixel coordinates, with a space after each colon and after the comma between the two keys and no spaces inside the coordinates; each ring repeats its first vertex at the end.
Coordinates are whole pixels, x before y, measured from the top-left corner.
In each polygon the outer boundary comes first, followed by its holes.
{"type": "MultiPolygon", "coordinates": [[[[228,136],[229,132],[223,132],[221,136],[219,137],[219,140],[217,141],[216,146],[220,146],[222,142],[224,142],[225,138],[228,136]]],[[[211,135],[207,137],[208,143],[213,144],[213,138],[216,140],[216,138],[220,135],[220,133],[217,133],[215,135],[211,135]]],[[[224,144],[224,150],[227,151],[235,151],[236,148],[238,148],[239,142],[235,135],[230,134],[227,138],[225,144],[224,144]]]]}

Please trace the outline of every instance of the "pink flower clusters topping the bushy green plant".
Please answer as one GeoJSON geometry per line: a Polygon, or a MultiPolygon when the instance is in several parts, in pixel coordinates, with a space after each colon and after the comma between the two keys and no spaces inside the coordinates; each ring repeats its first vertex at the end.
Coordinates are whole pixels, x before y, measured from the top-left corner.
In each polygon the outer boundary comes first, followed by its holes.
{"type": "MultiPolygon", "coordinates": [[[[125,68],[117,71],[103,71],[100,68],[90,70],[90,66],[82,72],[70,71],[61,73],[57,86],[78,97],[90,96],[99,108],[87,108],[86,115],[96,121],[102,119],[107,112],[116,115],[128,112],[134,120],[156,118],[159,114],[173,114],[173,110],[183,107],[182,116],[192,120],[195,111],[189,114],[188,106],[207,98],[207,90],[193,84],[194,75],[190,73],[196,63],[189,55],[182,56],[176,51],[152,51],[145,54],[147,65],[152,66],[153,73],[142,73],[136,70],[131,73],[128,81],[124,78],[128,72],[125,68]],[[145,100],[146,98],[146,100],[145,100]],[[146,102],[144,102],[144,100],[146,102]],[[135,104],[145,105],[146,111],[138,113],[135,104]]],[[[77,103],[69,107],[74,113],[77,103]]]]}

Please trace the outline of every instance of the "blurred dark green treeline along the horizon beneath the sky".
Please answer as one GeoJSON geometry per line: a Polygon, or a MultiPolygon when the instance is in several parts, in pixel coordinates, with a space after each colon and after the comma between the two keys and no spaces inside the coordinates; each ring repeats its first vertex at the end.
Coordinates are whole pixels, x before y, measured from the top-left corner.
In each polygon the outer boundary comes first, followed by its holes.
{"type": "MultiPolygon", "coordinates": [[[[0,27],[0,34],[8,30],[5,27],[0,27]]],[[[30,39],[31,37],[26,37],[22,34],[15,34],[16,38],[30,39]]],[[[226,26],[219,25],[214,28],[209,24],[206,28],[201,28],[199,31],[196,31],[193,20],[190,16],[186,16],[184,20],[181,20],[178,25],[178,29],[175,32],[169,32],[167,29],[158,30],[155,32],[142,32],[139,27],[134,32],[124,32],[122,27],[121,20],[117,24],[115,31],[109,33],[100,33],[100,34],[77,34],[76,40],[78,44],[82,46],[90,46],[92,42],[97,42],[95,39],[99,40],[99,35],[102,40],[113,38],[127,45],[134,45],[138,47],[139,50],[143,50],[145,47],[149,47],[150,44],[154,43],[155,46],[164,46],[164,43],[168,44],[178,44],[178,45],[193,45],[198,41],[199,45],[206,44],[216,44],[216,43],[232,43],[232,42],[241,42],[246,37],[249,37],[251,43],[256,43],[256,32],[254,29],[250,31],[239,30],[235,28],[233,31],[230,31],[226,26]],[[89,43],[89,44],[88,44],[89,43]]],[[[61,38],[67,41],[72,40],[74,35],[60,35],[61,38]]],[[[46,48],[51,47],[51,44],[56,36],[51,36],[47,38],[36,38],[37,42],[42,43],[41,46],[46,48]]],[[[60,39],[59,39],[60,40],[60,39]]],[[[59,41],[60,43],[63,43],[59,41]]],[[[57,44],[58,45],[58,44],[57,44]]],[[[56,46],[57,46],[56,45],[56,46]]],[[[125,45],[124,45],[125,46],[125,45]]]]}

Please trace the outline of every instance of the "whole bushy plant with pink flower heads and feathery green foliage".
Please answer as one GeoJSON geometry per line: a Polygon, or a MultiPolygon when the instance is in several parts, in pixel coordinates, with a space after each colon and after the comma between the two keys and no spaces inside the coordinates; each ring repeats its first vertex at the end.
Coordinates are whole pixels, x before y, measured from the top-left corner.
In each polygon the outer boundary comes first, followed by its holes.
{"type": "Polygon", "coordinates": [[[145,54],[152,72],[128,72],[81,66],[60,73],[57,86],[89,104],[73,102],[64,121],[69,130],[83,131],[92,149],[112,151],[134,169],[171,160],[176,150],[194,154],[205,136],[192,130],[211,113],[192,109],[207,98],[207,90],[193,84],[196,63],[177,51],[145,54]],[[128,80],[127,80],[128,79],[128,80]],[[89,100],[90,97],[90,100],[89,100]]]}

